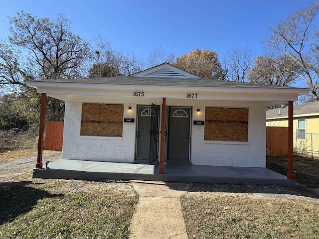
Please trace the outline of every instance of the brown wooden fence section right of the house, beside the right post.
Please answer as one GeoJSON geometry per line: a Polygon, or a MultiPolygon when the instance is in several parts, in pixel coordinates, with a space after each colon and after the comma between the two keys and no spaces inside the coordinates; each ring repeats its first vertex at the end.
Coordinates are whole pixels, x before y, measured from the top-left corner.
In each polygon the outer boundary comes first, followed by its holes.
{"type": "Polygon", "coordinates": [[[270,156],[287,156],[288,127],[266,127],[266,148],[270,156]]]}

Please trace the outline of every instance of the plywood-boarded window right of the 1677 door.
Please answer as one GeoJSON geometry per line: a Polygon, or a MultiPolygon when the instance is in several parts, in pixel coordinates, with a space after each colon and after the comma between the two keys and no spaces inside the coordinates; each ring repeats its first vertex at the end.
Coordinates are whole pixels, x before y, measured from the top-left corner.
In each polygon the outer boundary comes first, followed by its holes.
{"type": "Polygon", "coordinates": [[[248,109],[205,108],[204,140],[248,141],[248,109]]]}

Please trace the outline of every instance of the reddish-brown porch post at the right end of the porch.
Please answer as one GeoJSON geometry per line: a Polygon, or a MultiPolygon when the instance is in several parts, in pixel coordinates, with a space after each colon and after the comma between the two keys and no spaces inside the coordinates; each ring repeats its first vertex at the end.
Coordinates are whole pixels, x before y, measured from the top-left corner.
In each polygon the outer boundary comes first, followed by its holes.
{"type": "Polygon", "coordinates": [[[294,175],[294,102],[288,102],[288,179],[295,179],[294,175]]]}

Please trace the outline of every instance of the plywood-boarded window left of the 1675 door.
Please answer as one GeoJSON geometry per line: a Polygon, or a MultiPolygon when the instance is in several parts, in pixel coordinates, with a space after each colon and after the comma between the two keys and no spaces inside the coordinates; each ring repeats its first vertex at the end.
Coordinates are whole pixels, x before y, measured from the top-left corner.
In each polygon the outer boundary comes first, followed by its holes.
{"type": "Polygon", "coordinates": [[[123,105],[83,104],[81,135],[122,137],[123,105]]]}

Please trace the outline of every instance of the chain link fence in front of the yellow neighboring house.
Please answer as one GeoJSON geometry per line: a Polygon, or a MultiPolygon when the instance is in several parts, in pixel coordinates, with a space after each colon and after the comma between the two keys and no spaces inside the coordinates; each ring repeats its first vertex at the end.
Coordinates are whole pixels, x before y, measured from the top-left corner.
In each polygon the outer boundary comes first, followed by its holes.
{"type": "Polygon", "coordinates": [[[294,133],[294,152],[319,156],[319,133],[294,133]]]}

